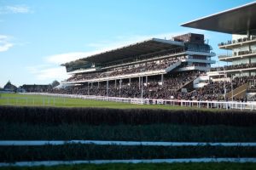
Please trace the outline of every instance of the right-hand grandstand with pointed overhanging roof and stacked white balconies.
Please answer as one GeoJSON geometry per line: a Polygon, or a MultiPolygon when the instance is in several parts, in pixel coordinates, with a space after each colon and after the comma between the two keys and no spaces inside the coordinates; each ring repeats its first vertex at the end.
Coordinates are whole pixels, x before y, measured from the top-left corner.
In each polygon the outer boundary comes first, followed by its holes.
{"type": "Polygon", "coordinates": [[[224,95],[226,100],[256,99],[255,16],[254,2],[182,25],[232,34],[232,40],[218,44],[218,48],[228,50],[226,54],[218,56],[218,59],[227,65],[212,68],[207,72],[210,82],[202,88],[204,93],[213,92],[216,95],[217,92],[224,95]]]}

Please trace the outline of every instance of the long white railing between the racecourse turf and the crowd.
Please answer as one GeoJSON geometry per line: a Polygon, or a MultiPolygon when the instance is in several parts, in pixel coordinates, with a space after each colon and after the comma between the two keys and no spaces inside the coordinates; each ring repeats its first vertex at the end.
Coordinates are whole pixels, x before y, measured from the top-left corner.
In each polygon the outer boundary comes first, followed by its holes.
{"type": "MultiPolygon", "coordinates": [[[[27,93],[26,93],[27,94],[27,93]]],[[[238,101],[197,101],[183,99],[137,99],[137,98],[117,98],[107,96],[94,95],[78,95],[78,94],[47,94],[47,93],[29,93],[40,94],[51,97],[65,97],[75,99],[96,99],[113,102],[123,102],[135,105],[172,105],[183,107],[212,108],[212,109],[236,109],[236,110],[256,110],[256,102],[238,102],[238,101]]]]}

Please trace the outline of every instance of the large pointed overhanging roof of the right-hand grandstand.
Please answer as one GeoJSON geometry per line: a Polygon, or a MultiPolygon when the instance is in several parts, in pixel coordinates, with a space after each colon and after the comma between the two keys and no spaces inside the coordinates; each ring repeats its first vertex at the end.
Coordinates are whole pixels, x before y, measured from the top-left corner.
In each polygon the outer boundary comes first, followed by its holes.
{"type": "Polygon", "coordinates": [[[256,2],[247,3],[237,8],[212,14],[198,20],[192,20],[181,26],[229,34],[256,33],[256,2]]]}

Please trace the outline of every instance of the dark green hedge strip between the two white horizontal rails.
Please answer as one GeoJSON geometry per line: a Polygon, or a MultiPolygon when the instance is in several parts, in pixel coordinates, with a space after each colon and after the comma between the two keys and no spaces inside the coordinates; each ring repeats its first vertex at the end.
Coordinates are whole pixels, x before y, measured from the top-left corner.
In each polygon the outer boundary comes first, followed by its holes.
{"type": "Polygon", "coordinates": [[[65,144],[0,146],[0,161],[165,159],[199,157],[255,157],[256,147],[223,146],[120,146],[65,144]]]}

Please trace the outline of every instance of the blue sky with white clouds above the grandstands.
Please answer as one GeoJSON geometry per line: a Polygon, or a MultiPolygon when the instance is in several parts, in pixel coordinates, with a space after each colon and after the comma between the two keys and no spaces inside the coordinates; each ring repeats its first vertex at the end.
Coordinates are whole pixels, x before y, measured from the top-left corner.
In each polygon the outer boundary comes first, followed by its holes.
{"type": "Polygon", "coordinates": [[[201,33],[213,52],[224,54],[218,43],[227,42],[231,35],[180,25],[252,2],[0,0],[0,87],[8,81],[17,87],[61,82],[69,77],[62,63],[152,37],[201,33]]]}

